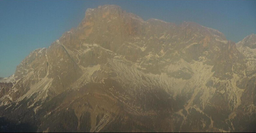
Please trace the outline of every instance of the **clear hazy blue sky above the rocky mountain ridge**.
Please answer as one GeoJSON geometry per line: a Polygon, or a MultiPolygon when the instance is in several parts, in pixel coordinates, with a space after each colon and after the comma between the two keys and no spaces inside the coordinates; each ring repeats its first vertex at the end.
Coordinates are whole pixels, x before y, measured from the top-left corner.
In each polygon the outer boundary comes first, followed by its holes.
{"type": "Polygon", "coordinates": [[[0,77],[8,77],[34,49],[52,42],[82,21],[87,8],[114,4],[144,20],[180,24],[197,22],[224,33],[234,42],[256,34],[255,0],[78,1],[1,0],[0,77]]]}

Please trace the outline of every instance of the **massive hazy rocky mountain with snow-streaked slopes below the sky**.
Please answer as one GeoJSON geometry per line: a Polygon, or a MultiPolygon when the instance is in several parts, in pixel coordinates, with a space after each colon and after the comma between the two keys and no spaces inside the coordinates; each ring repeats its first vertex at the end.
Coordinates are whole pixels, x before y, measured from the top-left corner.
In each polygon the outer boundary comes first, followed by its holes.
{"type": "Polygon", "coordinates": [[[0,131],[256,131],[254,37],[87,9],[0,81],[0,131]]]}

